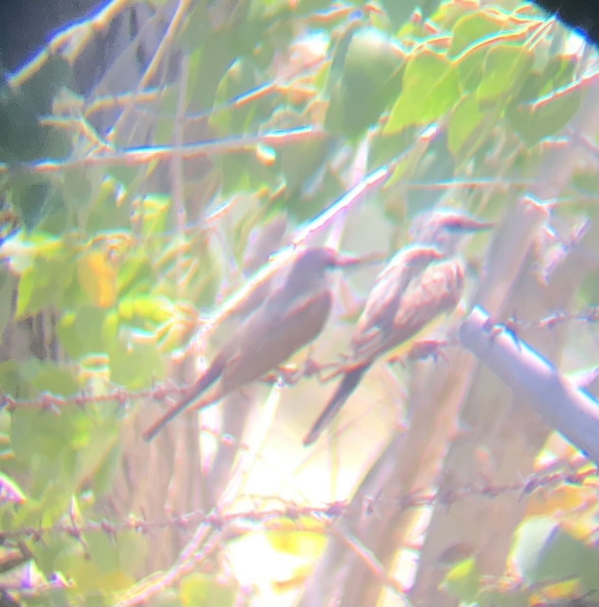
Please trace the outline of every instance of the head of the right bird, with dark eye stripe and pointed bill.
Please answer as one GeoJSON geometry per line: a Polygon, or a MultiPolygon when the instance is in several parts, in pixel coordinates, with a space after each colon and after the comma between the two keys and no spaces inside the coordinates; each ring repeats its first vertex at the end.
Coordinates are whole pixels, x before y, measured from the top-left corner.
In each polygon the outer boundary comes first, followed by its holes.
{"type": "Polygon", "coordinates": [[[417,215],[410,226],[413,242],[433,245],[445,255],[455,253],[465,236],[493,227],[453,209],[434,209],[417,215]]]}

